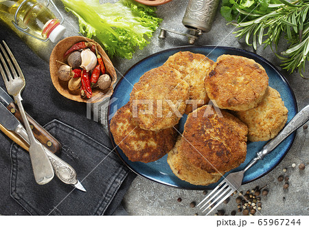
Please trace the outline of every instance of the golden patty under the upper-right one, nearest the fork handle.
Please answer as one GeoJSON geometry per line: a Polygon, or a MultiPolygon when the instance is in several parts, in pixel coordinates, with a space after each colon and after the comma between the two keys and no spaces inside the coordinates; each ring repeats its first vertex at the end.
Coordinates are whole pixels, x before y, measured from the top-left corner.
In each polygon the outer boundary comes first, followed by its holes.
{"type": "Polygon", "coordinates": [[[247,124],[249,141],[273,139],[286,124],[288,109],[277,90],[268,87],[266,97],[254,109],[235,112],[244,124],[247,124]]]}

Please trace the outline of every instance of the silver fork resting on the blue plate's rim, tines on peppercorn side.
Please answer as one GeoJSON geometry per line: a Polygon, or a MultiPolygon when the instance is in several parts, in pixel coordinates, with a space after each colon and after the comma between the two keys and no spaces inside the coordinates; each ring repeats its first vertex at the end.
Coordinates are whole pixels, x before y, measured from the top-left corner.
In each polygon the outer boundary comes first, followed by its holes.
{"type": "Polygon", "coordinates": [[[208,215],[212,212],[218,205],[220,205],[227,197],[229,197],[233,192],[238,190],[240,185],[242,185],[242,179],[244,178],[244,172],[249,170],[251,166],[262,160],[266,155],[268,155],[273,149],[275,149],[288,135],[293,133],[297,128],[305,124],[309,120],[309,105],[301,109],[295,117],[286,125],[286,127],[271,141],[257,152],[257,156],[252,159],[249,164],[239,172],[233,172],[227,175],[225,179],[214,189],[212,190],[201,203],[198,203],[197,207],[201,205],[201,209],[206,207],[203,212],[207,209],[210,209],[206,214],[208,215]],[[207,201],[208,199],[208,201],[207,201]],[[207,201],[206,203],[204,203],[207,201]],[[202,205],[203,204],[203,205],[202,205]],[[207,207],[208,206],[208,207],[207,207]]]}

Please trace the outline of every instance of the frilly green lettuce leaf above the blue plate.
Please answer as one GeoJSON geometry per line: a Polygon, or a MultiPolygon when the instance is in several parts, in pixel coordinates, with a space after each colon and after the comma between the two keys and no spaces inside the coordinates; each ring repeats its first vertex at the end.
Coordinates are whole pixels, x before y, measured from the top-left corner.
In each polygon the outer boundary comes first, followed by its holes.
{"type": "Polygon", "coordinates": [[[143,49],[157,30],[155,7],[133,0],[100,4],[99,0],[61,0],[67,11],[78,17],[80,32],[97,38],[109,56],[132,58],[135,49],[143,49]]]}

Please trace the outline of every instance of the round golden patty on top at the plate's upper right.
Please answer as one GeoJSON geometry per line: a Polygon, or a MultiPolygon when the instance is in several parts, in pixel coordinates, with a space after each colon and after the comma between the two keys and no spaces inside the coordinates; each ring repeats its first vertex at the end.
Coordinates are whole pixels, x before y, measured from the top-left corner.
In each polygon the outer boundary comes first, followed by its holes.
{"type": "Polygon", "coordinates": [[[222,55],[205,78],[205,88],[220,109],[247,111],[264,99],[268,76],[265,69],[250,58],[222,55]]]}

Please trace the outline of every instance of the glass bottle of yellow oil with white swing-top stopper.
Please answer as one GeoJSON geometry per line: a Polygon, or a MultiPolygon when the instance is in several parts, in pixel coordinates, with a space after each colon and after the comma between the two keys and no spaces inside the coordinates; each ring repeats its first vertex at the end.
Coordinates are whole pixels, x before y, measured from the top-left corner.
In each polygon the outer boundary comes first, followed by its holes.
{"type": "Polygon", "coordinates": [[[0,12],[14,16],[17,10],[17,23],[32,36],[56,42],[65,32],[65,27],[43,3],[36,0],[0,0],[0,12]]]}

